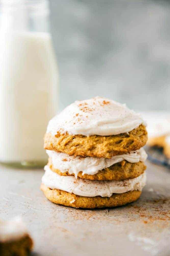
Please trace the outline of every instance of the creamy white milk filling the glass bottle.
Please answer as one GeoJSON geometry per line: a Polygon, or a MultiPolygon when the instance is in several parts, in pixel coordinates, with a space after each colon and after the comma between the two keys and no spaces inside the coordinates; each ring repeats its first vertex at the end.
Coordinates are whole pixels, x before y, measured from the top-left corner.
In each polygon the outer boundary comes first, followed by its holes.
{"type": "Polygon", "coordinates": [[[0,38],[0,162],[44,161],[58,103],[50,34],[1,31],[0,38]]]}

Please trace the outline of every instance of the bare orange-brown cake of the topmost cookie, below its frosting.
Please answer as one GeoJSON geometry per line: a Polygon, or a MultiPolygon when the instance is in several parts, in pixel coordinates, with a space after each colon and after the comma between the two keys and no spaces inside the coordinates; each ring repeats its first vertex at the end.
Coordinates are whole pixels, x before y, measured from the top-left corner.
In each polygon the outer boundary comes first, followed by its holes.
{"type": "Polygon", "coordinates": [[[70,135],[46,133],[44,148],[75,156],[111,158],[138,150],[147,142],[146,127],[141,124],[128,133],[117,135],[70,135]]]}

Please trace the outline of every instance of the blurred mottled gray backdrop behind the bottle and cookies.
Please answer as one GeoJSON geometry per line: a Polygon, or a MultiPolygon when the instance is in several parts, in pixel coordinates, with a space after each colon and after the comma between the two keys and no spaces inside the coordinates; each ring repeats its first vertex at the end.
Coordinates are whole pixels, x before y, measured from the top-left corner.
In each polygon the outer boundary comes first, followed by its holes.
{"type": "Polygon", "coordinates": [[[50,0],[60,109],[100,95],[170,110],[170,2],[50,0]]]}

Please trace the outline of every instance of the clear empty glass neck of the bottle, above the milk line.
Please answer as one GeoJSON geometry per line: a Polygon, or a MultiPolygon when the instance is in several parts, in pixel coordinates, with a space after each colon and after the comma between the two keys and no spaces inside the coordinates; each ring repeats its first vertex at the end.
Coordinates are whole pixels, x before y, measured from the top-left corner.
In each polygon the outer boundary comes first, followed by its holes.
{"type": "Polygon", "coordinates": [[[49,32],[47,0],[3,0],[1,3],[1,31],[49,32]]]}

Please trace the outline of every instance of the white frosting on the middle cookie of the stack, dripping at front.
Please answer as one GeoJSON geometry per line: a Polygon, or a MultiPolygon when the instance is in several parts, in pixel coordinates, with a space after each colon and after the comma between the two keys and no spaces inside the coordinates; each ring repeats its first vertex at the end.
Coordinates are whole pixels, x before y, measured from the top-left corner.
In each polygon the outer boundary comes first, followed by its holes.
{"type": "Polygon", "coordinates": [[[147,159],[147,154],[143,148],[130,153],[113,156],[110,159],[99,157],[82,157],[82,156],[70,156],[65,153],[47,150],[48,156],[51,158],[55,169],[59,169],[60,172],[69,172],[69,174],[82,174],[94,175],[99,170],[110,167],[113,164],[126,160],[130,163],[144,162],[147,159]]]}

